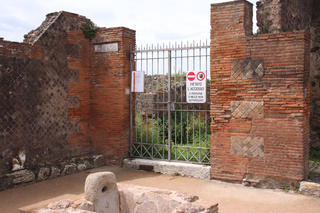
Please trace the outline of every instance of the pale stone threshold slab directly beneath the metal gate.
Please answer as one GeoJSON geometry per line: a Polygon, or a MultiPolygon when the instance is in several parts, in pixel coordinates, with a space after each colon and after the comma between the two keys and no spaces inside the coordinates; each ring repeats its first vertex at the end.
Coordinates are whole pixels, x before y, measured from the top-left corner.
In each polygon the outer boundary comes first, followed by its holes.
{"type": "Polygon", "coordinates": [[[127,158],[123,167],[133,170],[154,171],[165,175],[178,175],[188,178],[210,180],[210,166],[199,164],[127,158]]]}

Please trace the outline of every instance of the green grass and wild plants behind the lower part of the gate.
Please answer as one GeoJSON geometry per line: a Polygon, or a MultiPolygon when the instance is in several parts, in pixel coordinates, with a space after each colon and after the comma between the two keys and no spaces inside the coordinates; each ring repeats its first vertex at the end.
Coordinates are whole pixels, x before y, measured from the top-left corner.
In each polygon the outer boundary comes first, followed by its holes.
{"type": "MultiPolygon", "coordinates": [[[[171,159],[209,164],[210,118],[178,110],[172,113],[171,124],[171,159]]],[[[137,112],[135,132],[135,141],[145,143],[139,150],[143,157],[169,159],[168,115],[145,119],[137,112]]]]}

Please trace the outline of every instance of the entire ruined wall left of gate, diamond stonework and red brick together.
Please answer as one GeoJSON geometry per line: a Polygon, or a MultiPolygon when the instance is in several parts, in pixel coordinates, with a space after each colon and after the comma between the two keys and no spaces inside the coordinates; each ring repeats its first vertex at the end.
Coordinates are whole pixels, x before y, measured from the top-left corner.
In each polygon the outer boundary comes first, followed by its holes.
{"type": "Polygon", "coordinates": [[[0,39],[0,172],[12,168],[19,149],[27,150],[26,166],[88,153],[120,163],[128,155],[124,88],[135,33],[101,28],[91,41],[82,33],[85,22],[55,12],[25,35],[25,43],[0,39]],[[108,42],[118,42],[119,51],[94,52],[95,44],[108,42]]]}

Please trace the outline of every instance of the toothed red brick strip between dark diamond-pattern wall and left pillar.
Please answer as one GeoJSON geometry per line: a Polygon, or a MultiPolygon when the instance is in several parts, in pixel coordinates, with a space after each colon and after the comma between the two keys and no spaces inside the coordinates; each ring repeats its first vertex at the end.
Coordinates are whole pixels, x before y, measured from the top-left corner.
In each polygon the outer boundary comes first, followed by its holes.
{"type": "Polygon", "coordinates": [[[90,126],[90,56],[94,47],[89,39],[84,38],[80,25],[86,18],[77,14],[63,12],[69,18],[76,18],[78,27],[66,31],[68,46],[74,48],[68,56],[68,68],[79,73],[78,80],[68,83],[68,95],[79,97],[78,107],[68,108],[68,119],[79,122],[79,132],[68,135],[69,147],[80,147],[82,153],[91,153],[90,126]]]}

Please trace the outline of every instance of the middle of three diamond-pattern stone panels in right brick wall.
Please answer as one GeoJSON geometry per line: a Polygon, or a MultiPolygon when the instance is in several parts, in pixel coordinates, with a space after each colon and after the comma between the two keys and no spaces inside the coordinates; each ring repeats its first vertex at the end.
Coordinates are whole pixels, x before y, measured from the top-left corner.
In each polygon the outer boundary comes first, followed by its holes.
{"type": "Polygon", "coordinates": [[[264,118],[263,101],[231,101],[234,118],[264,118]]]}

